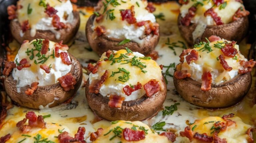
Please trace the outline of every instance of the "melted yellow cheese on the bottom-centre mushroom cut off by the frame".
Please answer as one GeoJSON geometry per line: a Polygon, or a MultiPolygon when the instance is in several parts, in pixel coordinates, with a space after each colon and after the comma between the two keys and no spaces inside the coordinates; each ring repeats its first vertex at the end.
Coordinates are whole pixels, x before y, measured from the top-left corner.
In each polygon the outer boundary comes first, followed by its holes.
{"type": "MultiPolygon", "coordinates": [[[[115,137],[114,139],[110,140],[111,137],[113,137],[115,134],[113,132],[110,132],[109,134],[105,135],[106,133],[109,132],[109,130],[114,130],[115,127],[117,126],[120,126],[121,128],[130,128],[133,127],[133,125],[137,125],[137,126],[142,126],[142,127],[145,127],[146,130],[148,130],[148,134],[145,134],[145,139],[143,140],[139,140],[139,141],[136,141],[136,143],[148,143],[148,142],[154,142],[154,143],[171,143],[171,141],[168,140],[167,137],[165,136],[160,136],[158,135],[156,132],[153,132],[148,125],[140,122],[140,121],[134,121],[134,122],[131,122],[131,121],[123,121],[123,120],[120,120],[118,121],[116,124],[112,124],[111,126],[109,126],[108,128],[105,128],[102,132],[102,134],[95,140],[93,141],[93,143],[112,143],[112,142],[122,142],[122,143],[129,143],[131,141],[126,141],[124,139],[124,137],[122,136],[122,133],[121,133],[121,138],[119,137],[115,137]],[[125,122],[129,122],[129,123],[125,123],[125,122]]],[[[141,129],[139,129],[139,127],[136,127],[136,129],[138,131],[141,131],[141,129]]]]}

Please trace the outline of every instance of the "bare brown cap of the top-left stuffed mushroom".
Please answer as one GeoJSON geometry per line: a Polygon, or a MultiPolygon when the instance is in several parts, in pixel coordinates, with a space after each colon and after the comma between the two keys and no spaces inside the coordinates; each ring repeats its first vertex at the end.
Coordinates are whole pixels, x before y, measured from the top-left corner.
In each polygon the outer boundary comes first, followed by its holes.
{"type": "Polygon", "coordinates": [[[60,38],[56,39],[55,34],[50,30],[37,30],[36,35],[34,37],[30,36],[30,30],[27,30],[24,33],[24,36],[21,37],[19,32],[21,31],[21,25],[18,21],[12,20],[10,22],[10,29],[12,36],[21,44],[24,40],[32,41],[33,39],[45,39],[48,38],[50,41],[59,42],[63,40],[63,43],[67,43],[71,40],[77,33],[80,25],[80,17],[79,12],[73,11],[74,20],[72,23],[67,23],[67,28],[60,29],[58,32],[60,33],[60,38]]]}

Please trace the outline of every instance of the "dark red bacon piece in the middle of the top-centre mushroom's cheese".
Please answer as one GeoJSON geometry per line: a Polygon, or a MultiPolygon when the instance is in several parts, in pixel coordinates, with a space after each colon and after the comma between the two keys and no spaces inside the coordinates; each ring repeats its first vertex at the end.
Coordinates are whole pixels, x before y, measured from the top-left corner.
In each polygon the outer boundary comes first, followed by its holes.
{"type": "Polygon", "coordinates": [[[126,10],[121,10],[121,17],[122,17],[122,21],[126,20],[129,24],[135,24],[136,18],[135,16],[135,12],[134,12],[134,6],[131,6],[130,9],[126,9],[126,10]]]}

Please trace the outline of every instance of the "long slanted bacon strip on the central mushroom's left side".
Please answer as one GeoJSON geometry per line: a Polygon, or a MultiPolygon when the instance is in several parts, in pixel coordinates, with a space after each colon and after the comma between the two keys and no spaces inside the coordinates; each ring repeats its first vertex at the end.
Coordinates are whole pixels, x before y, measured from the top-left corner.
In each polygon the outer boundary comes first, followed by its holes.
{"type": "Polygon", "coordinates": [[[104,74],[100,77],[100,80],[93,80],[91,85],[89,86],[90,93],[98,94],[101,88],[101,85],[105,82],[108,76],[108,70],[104,72],[104,74]]]}

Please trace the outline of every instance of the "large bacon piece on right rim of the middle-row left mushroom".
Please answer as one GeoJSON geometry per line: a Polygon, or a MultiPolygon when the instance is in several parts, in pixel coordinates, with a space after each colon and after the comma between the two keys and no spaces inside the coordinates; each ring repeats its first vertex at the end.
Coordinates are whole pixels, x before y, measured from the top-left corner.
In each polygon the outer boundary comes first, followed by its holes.
{"type": "Polygon", "coordinates": [[[74,85],[76,84],[76,78],[71,74],[68,73],[58,79],[60,82],[61,87],[63,87],[64,91],[69,91],[74,89],[74,85]]]}

